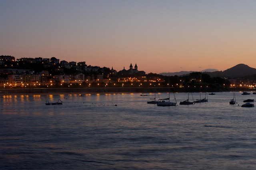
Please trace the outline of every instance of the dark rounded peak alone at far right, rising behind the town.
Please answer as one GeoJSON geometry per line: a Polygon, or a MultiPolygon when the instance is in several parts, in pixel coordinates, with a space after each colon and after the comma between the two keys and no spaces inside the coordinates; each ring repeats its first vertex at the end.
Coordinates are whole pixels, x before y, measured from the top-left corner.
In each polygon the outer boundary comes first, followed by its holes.
{"type": "Polygon", "coordinates": [[[204,72],[209,74],[211,77],[228,77],[228,78],[238,78],[256,74],[256,68],[251,68],[246,64],[238,64],[232,68],[224,71],[216,72],[204,72]]]}

